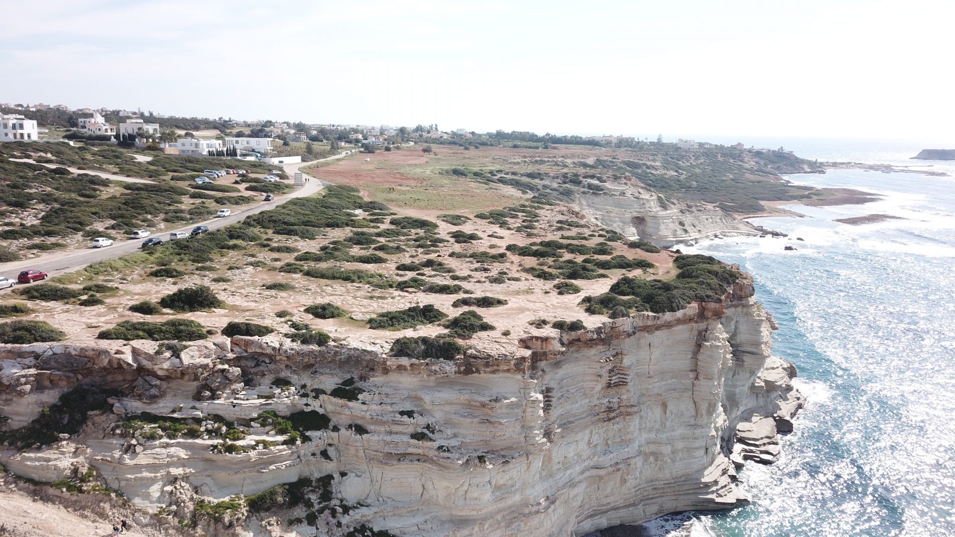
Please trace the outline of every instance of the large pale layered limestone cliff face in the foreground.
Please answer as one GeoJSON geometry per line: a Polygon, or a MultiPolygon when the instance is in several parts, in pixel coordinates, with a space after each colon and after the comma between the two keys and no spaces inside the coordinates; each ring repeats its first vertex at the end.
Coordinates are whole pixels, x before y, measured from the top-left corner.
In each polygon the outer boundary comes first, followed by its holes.
{"type": "MultiPolygon", "coordinates": [[[[134,505],[154,511],[181,512],[197,494],[224,500],[328,476],[334,502],[350,509],[296,526],[309,534],[343,535],[368,523],[397,535],[569,536],[739,505],[746,500],[734,467],[775,460],[777,426],[787,430],[801,404],[790,383],[795,370],[771,354],[772,318],[752,295],[740,281],[723,303],[553,331],[458,362],[269,337],[207,341],[179,357],[140,341],[4,346],[7,428],[34,419],[76,383],[128,395],[111,399],[114,414],[90,419],[78,435],[23,452],[5,448],[0,461],[44,482],[90,464],[134,505]],[[344,395],[336,390],[343,386],[344,395]],[[254,449],[283,438],[249,422],[265,410],[320,411],[330,423],[300,443],[254,449]],[[252,449],[227,455],[210,451],[216,440],[133,438],[114,423],[142,412],[194,419],[207,430],[216,425],[206,419],[221,416],[251,427],[251,440],[238,443],[252,449]]],[[[306,511],[276,514],[288,520],[306,511]]],[[[213,533],[247,527],[276,534],[255,517],[213,533]]]]}

